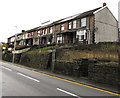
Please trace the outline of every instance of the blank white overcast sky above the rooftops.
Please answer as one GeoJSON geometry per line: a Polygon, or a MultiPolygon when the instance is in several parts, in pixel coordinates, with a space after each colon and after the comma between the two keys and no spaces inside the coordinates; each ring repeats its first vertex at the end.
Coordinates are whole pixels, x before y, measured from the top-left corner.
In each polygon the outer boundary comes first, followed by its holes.
{"type": "Polygon", "coordinates": [[[103,2],[118,20],[120,0],[0,0],[0,42],[21,30],[101,7],[103,2]],[[16,29],[17,26],[17,29],[16,29]],[[16,31],[17,30],[17,31],[16,31]]]}

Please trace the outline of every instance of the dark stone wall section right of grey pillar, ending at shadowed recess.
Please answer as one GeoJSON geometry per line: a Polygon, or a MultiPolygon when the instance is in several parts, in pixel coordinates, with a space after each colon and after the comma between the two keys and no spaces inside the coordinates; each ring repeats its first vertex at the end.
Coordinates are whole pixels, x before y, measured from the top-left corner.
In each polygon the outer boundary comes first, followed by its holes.
{"type": "Polygon", "coordinates": [[[88,77],[88,64],[82,59],[74,62],[56,61],[54,72],[75,77],[88,77]]]}

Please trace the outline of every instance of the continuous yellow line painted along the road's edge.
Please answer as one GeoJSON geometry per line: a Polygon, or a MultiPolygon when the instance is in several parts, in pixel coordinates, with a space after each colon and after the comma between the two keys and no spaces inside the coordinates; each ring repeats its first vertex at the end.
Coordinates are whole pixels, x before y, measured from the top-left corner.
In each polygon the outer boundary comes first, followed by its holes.
{"type": "Polygon", "coordinates": [[[91,89],[95,89],[95,90],[98,90],[98,91],[102,91],[102,92],[106,92],[106,93],[109,93],[109,94],[113,94],[113,95],[116,95],[116,96],[120,96],[120,94],[114,93],[112,91],[107,91],[107,90],[103,90],[103,89],[100,89],[100,88],[97,88],[97,87],[88,86],[88,85],[85,85],[85,84],[82,84],[82,83],[78,83],[78,82],[70,81],[70,80],[67,80],[67,79],[59,78],[59,77],[56,77],[56,76],[48,75],[48,74],[45,74],[45,73],[37,72],[37,71],[31,70],[31,69],[27,69],[27,68],[24,68],[24,67],[19,67],[17,65],[12,65],[12,66],[15,66],[15,67],[18,67],[18,68],[21,68],[21,69],[25,69],[25,70],[28,70],[28,71],[32,71],[34,73],[42,74],[42,75],[45,75],[45,76],[48,76],[48,77],[52,77],[52,78],[55,78],[55,79],[63,80],[63,81],[66,81],[66,82],[69,82],[69,83],[73,83],[73,84],[76,84],[76,85],[81,85],[81,86],[84,86],[84,87],[87,87],[87,88],[91,88],[91,89]]]}

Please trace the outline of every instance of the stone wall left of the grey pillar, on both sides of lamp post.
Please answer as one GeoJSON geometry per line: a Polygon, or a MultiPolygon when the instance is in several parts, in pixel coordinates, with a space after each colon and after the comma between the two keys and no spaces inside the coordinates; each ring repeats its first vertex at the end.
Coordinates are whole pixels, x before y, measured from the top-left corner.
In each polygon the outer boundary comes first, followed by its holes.
{"type": "MultiPolygon", "coordinates": [[[[12,62],[13,55],[7,53],[2,55],[2,59],[8,62],[12,62]]],[[[15,55],[15,63],[38,68],[38,69],[50,69],[51,68],[51,53],[22,53],[15,55]]]]}

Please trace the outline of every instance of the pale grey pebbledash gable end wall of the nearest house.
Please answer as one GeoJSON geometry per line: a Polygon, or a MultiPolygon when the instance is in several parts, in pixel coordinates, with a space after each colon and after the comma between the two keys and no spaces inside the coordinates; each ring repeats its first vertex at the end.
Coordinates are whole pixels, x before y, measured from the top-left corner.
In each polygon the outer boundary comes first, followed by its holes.
{"type": "Polygon", "coordinates": [[[95,13],[95,43],[118,42],[118,21],[105,7],[95,13]]]}

